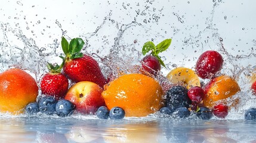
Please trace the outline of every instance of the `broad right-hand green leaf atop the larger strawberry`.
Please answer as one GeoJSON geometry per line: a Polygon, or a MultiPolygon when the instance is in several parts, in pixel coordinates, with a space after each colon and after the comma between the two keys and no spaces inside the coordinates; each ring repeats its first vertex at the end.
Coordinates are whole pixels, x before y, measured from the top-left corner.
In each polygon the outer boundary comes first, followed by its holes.
{"type": "Polygon", "coordinates": [[[81,38],[74,38],[69,43],[69,53],[73,54],[76,52],[80,52],[83,48],[85,42],[81,38]]]}

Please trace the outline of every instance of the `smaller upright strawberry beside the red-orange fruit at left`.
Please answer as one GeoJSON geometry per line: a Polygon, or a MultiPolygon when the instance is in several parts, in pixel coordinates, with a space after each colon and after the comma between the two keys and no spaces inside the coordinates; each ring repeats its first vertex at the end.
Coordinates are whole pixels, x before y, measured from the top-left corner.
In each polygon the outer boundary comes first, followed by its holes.
{"type": "Polygon", "coordinates": [[[53,96],[57,100],[64,98],[69,88],[69,80],[63,73],[60,73],[61,67],[58,64],[53,66],[48,63],[47,68],[50,72],[41,79],[42,94],[53,96]]]}

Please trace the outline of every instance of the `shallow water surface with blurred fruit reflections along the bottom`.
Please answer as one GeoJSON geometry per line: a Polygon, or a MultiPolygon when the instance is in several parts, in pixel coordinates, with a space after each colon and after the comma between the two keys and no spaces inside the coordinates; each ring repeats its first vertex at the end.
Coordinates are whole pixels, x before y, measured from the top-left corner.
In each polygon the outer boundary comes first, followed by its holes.
{"type": "Polygon", "coordinates": [[[245,120],[0,119],[0,142],[255,142],[245,120]]]}

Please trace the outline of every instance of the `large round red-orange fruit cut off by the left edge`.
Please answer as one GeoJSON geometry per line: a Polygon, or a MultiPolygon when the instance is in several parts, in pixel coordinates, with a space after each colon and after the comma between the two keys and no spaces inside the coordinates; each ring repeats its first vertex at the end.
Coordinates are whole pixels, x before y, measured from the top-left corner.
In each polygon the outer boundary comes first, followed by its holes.
{"type": "Polygon", "coordinates": [[[0,111],[22,113],[24,107],[36,101],[38,85],[29,73],[9,69],[0,73],[0,111]]]}

